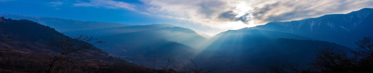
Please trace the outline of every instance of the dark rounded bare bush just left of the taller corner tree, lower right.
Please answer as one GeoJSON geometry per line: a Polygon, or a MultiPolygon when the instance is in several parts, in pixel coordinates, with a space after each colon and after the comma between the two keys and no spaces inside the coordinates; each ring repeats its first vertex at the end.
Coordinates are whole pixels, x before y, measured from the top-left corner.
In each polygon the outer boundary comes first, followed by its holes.
{"type": "Polygon", "coordinates": [[[346,51],[325,47],[317,51],[310,65],[317,72],[344,73],[353,72],[356,68],[355,57],[349,57],[346,51]]]}

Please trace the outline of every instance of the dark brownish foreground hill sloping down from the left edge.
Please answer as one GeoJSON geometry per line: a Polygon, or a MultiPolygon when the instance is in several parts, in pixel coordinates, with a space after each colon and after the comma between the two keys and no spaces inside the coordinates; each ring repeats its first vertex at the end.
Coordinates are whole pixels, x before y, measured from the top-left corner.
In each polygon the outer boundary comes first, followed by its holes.
{"type": "MultiPolygon", "coordinates": [[[[61,35],[59,32],[49,26],[41,25],[31,20],[12,20],[0,18],[0,72],[48,72],[48,65],[51,60],[54,60],[61,53],[62,49],[50,45],[51,39],[73,38],[61,35]],[[57,56],[56,56],[57,55],[57,56]]],[[[86,43],[84,41],[76,41],[74,45],[86,43]]],[[[90,42],[91,43],[91,42],[90,42]]],[[[90,45],[90,44],[88,44],[90,45]]],[[[88,47],[88,46],[87,46],[88,47]]],[[[73,62],[59,61],[58,64],[53,64],[53,70],[49,72],[153,72],[153,70],[130,63],[121,58],[109,56],[106,52],[94,46],[89,46],[88,52],[73,52],[64,54],[62,58],[70,58],[70,60],[78,60],[76,56],[85,56],[79,58],[94,58],[79,60],[73,62]],[[85,53],[85,54],[82,54],[85,53]],[[79,66],[82,63],[85,66],[79,66]],[[64,64],[71,63],[71,64],[64,64]],[[79,69],[71,69],[74,67],[66,67],[59,65],[76,66],[79,69]],[[70,70],[63,70],[70,69],[70,70]]],[[[69,60],[69,61],[70,61],[69,60]]]]}

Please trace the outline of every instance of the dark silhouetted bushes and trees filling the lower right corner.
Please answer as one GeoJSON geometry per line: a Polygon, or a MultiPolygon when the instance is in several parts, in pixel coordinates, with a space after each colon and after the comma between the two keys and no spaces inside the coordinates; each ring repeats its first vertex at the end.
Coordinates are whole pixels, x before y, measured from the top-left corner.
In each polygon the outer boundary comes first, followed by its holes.
{"type": "Polygon", "coordinates": [[[355,50],[346,51],[325,47],[317,51],[316,57],[309,64],[298,62],[276,62],[270,66],[275,73],[372,73],[373,72],[373,39],[364,37],[358,42],[355,50]]]}

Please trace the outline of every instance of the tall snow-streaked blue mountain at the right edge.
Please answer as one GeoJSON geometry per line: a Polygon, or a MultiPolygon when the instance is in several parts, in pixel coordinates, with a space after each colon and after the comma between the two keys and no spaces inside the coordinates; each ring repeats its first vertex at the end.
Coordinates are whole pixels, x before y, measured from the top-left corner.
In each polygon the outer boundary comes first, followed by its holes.
{"type": "Polygon", "coordinates": [[[290,22],[269,22],[266,25],[240,30],[286,32],[354,48],[354,42],[358,39],[373,36],[372,21],[373,9],[364,8],[347,14],[324,15],[290,22]]]}

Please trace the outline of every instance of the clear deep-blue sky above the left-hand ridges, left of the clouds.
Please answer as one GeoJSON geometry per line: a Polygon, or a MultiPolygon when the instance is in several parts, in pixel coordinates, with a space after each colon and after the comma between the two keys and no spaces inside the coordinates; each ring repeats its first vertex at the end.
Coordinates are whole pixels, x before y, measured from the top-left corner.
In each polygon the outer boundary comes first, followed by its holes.
{"type": "MultiPolygon", "coordinates": [[[[63,0],[62,0],[63,1],[63,0]]],[[[62,2],[59,1],[59,2],[62,2]]],[[[0,1],[1,2],[1,1],[0,1]]],[[[21,15],[56,17],[88,21],[124,23],[128,25],[149,25],[153,23],[172,22],[170,19],[144,15],[126,9],[109,9],[98,7],[79,7],[63,3],[54,5],[50,0],[11,0],[0,3],[0,12],[21,15]]],[[[139,3],[138,1],[130,1],[139,3]]],[[[72,1],[72,3],[78,3],[72,1]]]]}

